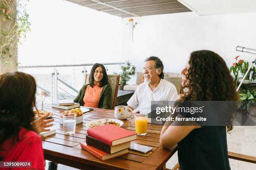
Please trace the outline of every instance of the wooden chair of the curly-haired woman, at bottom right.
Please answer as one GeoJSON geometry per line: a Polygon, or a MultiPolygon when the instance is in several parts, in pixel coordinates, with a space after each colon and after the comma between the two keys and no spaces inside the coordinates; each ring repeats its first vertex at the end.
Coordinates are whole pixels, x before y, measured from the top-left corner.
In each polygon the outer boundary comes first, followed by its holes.
{"type": "MultiPolygon", "coordinates": [[[[243,155],[240,153],[233,153],[228,152],[228,158],[235,159],[235,160],[241,160],[248,163],[256,163],[256,157],[255,156],[249,156],[249,155],[243,155]]],[[[167,170],[167,169],[166,169],[167,170]]],[[[180,170],[179,163],[177,163],[172,170],[180,170]]]]}

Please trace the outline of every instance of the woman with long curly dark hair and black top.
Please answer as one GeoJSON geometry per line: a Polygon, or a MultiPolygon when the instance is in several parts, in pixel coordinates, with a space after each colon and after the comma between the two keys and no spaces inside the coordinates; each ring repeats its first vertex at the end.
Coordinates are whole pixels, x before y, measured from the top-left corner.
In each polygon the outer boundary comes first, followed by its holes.
{"type": "MultiPolygon", "coordinates": [[[[179,97],[180,101],[238,100],[233,77],[215,52],[192,52],[181,73],[184,95],[179,97]]],[[[167,122],[162,128],[160,143],[163,148],[178,144],[181,170],[230,170],[225,126],[175,123],[167,122]]],[[[227,126],[228,131],[232,128],[232,124],[227,126]]]]}

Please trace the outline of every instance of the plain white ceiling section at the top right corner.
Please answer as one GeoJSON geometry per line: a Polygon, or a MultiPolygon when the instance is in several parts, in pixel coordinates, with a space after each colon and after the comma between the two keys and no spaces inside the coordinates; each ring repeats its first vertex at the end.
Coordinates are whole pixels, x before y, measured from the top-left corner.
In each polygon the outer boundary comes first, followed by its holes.
{"type": "Polygon", "coordinates": [[[178,0],[198,15],[256,12],[256,0],[178,0]]]}

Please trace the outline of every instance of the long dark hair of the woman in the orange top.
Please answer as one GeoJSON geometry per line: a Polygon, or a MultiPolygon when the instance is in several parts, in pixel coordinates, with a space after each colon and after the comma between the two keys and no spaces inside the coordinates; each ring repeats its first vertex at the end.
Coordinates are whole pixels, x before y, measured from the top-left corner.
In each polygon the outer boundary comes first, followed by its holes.
{"type": "Polygon", "coordinates": [[[104,65],[102,65],[100,63],[95,63],[92,66],[92,69],[91,69],[91,72],[90,72],[90,77],[89,77],[89,84],[90,84],[91,87],[94,86],[94,72],[95,72],[97,67],[101,67],[102,70],[103,70],[103,77],[102,77],[102,80],[100,81],[100,87],[103,87],[104,85],[107,85],[109,83],[108,83],[107,71],[106,71],[104,65]]]}

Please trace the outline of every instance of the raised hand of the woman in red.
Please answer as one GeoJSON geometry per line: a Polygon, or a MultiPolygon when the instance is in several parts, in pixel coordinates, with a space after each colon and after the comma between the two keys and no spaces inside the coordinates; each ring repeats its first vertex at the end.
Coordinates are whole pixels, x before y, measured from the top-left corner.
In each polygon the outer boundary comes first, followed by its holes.
{"type": "Polygon", "coordinates": [[[41,132],[47,132],[47,131],[50,131],[50,129],[45,129],[45,128],[49,128],[51,127],[53,124],[47,124],[47,123],[50,123],[50,122],[53,122],[54,119],[48,119],[46,120],[46,118],[49,116],[49,113],[47,113],[46,115],[40,117],[39,119],[37,120],[34,120],[32,122],[32,125],[36,131],[36,133],[41,133],[41,132]]]}

